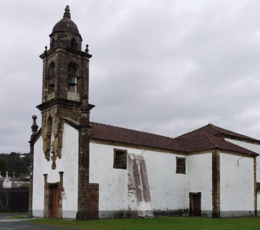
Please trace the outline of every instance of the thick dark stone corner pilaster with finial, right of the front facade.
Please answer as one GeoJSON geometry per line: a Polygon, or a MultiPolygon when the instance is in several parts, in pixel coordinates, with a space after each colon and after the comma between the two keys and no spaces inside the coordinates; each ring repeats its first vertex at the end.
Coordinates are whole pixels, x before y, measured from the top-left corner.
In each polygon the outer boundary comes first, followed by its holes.
{"type": "Polygon", "coordinates": [[[88,96],[83,94],[79,119],[79,168],[78,168],[78,211],[77,220],[87,220],[89,216],[89,142],[90,122],[88,96]]]}

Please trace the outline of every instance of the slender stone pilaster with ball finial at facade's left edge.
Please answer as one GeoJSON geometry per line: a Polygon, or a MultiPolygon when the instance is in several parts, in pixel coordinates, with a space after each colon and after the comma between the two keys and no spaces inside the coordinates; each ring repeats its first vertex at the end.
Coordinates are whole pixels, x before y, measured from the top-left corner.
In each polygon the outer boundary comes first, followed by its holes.
{"type": "Polygon", "coordinates": [[[37,116],[33,115],[32,116],[33,119],[33,125],[31,126],[31,140],[29,141],[30,143],[30,181],[29,181],[29,208],[28,208],[28,212],[27,212],[27,216],[32,217],[33,213],[32,213],[32,192],[33,192],[33,173],[34,173],[34,138],[37,134],[38,131],[38,126],[36,124],[36,119],[37,116]]]}

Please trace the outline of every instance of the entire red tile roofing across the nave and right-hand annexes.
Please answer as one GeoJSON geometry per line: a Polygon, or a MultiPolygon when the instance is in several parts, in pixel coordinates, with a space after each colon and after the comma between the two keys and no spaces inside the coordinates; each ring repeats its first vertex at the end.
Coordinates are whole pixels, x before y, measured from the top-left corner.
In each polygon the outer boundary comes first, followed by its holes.
{"type": "MultiPolygon", "coordinates": [[[[71,123],[71,119],[63,117],[71,123]]],[[[147,132],[140,132],[116,126],[104,125],[100,123],[90,122],[91,139],[115,141],[126,144],[142,145],[145,147],[155,147],[161,149],[170,149],[182,152],[193,152],[207,149],[222,149],[240,152],[244,154],[259,155],[248,149],[225,141],[218,137],[220,134],[235,136],[241,139],[248,139],[260,142],[259,140],[244,136],[226,129],[208,124],[202,128],[188,132],[176,138],[160,136],[147,132]]],[[[78,126],[78,122],[73,122],[73,126],[78,126]]]]}

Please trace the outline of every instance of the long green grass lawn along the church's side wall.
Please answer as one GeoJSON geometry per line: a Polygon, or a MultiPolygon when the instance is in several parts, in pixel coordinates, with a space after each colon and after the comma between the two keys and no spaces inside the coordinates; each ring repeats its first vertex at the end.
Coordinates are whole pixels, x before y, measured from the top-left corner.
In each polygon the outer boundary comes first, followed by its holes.
{"type": "Polygon", "coordinates": [[[259,230],[260,218],[212,219],[202,217],[156,217],[154,219],[99,219],[72,221],[34,219],[29,222],[86,230],[259,230]]]}

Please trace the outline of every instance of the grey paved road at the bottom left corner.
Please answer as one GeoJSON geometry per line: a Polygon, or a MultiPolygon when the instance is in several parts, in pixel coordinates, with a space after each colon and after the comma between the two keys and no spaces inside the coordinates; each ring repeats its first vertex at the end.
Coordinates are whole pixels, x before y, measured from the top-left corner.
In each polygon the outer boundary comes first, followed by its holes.
{"type": "Polygon", "coordinates": [[[26,222],[26,219],[9,219],[10,216],[18,216],[18,214],[0,215],[0,230],[75,230],[75,228],[55,227],[26,222]]]}

